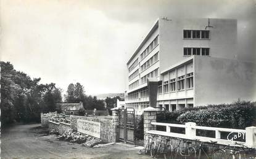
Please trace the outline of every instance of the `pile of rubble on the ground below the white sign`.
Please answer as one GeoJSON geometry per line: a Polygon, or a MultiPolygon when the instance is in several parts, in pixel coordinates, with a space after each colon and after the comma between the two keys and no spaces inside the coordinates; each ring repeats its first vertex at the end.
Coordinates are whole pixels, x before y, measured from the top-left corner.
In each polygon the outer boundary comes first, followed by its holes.
{"type": "Polygon", "coordinates": [[[93,147],[94,145],[101,144],[102,139],[94,138],[89,135],[84,135],[73,130],[67,130],[64,134],[58,137],[60,141],[69,141],[72,143],[82,144],[85,147],[93,147]]]}

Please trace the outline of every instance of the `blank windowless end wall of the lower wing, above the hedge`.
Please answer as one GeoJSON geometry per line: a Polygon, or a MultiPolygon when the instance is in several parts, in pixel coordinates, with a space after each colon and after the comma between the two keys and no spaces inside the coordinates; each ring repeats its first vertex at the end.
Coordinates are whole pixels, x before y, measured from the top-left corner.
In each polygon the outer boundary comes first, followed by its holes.
{"type": "Polygon", "coordinates": [[[197,56],[194,60],[195,106],[256,100],[254,63],[197,56]]]}

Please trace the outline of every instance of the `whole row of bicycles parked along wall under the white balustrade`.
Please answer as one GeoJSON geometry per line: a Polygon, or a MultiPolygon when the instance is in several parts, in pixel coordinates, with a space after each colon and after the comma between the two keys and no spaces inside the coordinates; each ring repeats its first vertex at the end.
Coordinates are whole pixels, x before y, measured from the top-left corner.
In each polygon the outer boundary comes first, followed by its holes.
{"type": "Polygon", "coordinates": [[[144,149],[140,150],[139,153],[150,154],[152,158],[256,158],[255,149],[237,142],[233,146],[220,145],[217,141],[202,142],[199,140],[194,142],[196,144],[192,144],[192,141],[188,139],[172,138],[149,133],[147,135],[148,139],[144,145],[144,149]]]}

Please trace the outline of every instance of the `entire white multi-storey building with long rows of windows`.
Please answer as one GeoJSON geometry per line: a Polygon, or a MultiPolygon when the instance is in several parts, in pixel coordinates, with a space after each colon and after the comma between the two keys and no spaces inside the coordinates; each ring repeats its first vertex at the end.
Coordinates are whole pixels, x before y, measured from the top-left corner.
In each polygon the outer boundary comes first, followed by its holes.
{"type": "Polygon", "coordinates": [[[167,111],[255,99],[254,63],[237,60],[236,47],[236,20],[157,20],[127,63],[126,107],[150,106],[149,78],[158,81],[153,107],[167,111]]]}

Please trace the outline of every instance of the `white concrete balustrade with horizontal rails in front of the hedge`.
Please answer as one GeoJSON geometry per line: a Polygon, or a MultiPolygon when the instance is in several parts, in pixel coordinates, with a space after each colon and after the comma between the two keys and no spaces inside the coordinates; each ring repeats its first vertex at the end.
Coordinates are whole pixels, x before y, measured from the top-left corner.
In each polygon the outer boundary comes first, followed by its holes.
{"type": "Polygon", "coordinates": [[[217,141],[217,144],[222,145],[237,145],[244,144],[247,147],[256,148],[256,127],[250,126],[247,127],[246,130],[238,130],[238,129],[231,129],[231,128],[215,128],[215,127],[208,127],[208,126],[197,126],[196,123],[188,122],[184,125],[182,124],[174,124],[174,123],[158,123],[158,122],[151,122],[151,125],[156,126],[166,126],[166,131],[158,131],[158,130],[149,130],[146,131],[150,134],[157,134],[161,136],[170,136],[172,138],[183,138],[195,141],[202,141],[202,142],[210,142],[210,141],[217,141]],[[181,133],[172,133],[171,128],[184,128],[185,134],[181,133]],[[215,138],[197,136],[196,130],[210,130],[215,131],[215,138]],[[227,136],[226,139],[221,139],[221,132],[228,132],[230,136],[227,136]],[[246,142],[241,141],[234,141],[234,139],[241,138],[245,139],[246,142]]]}

